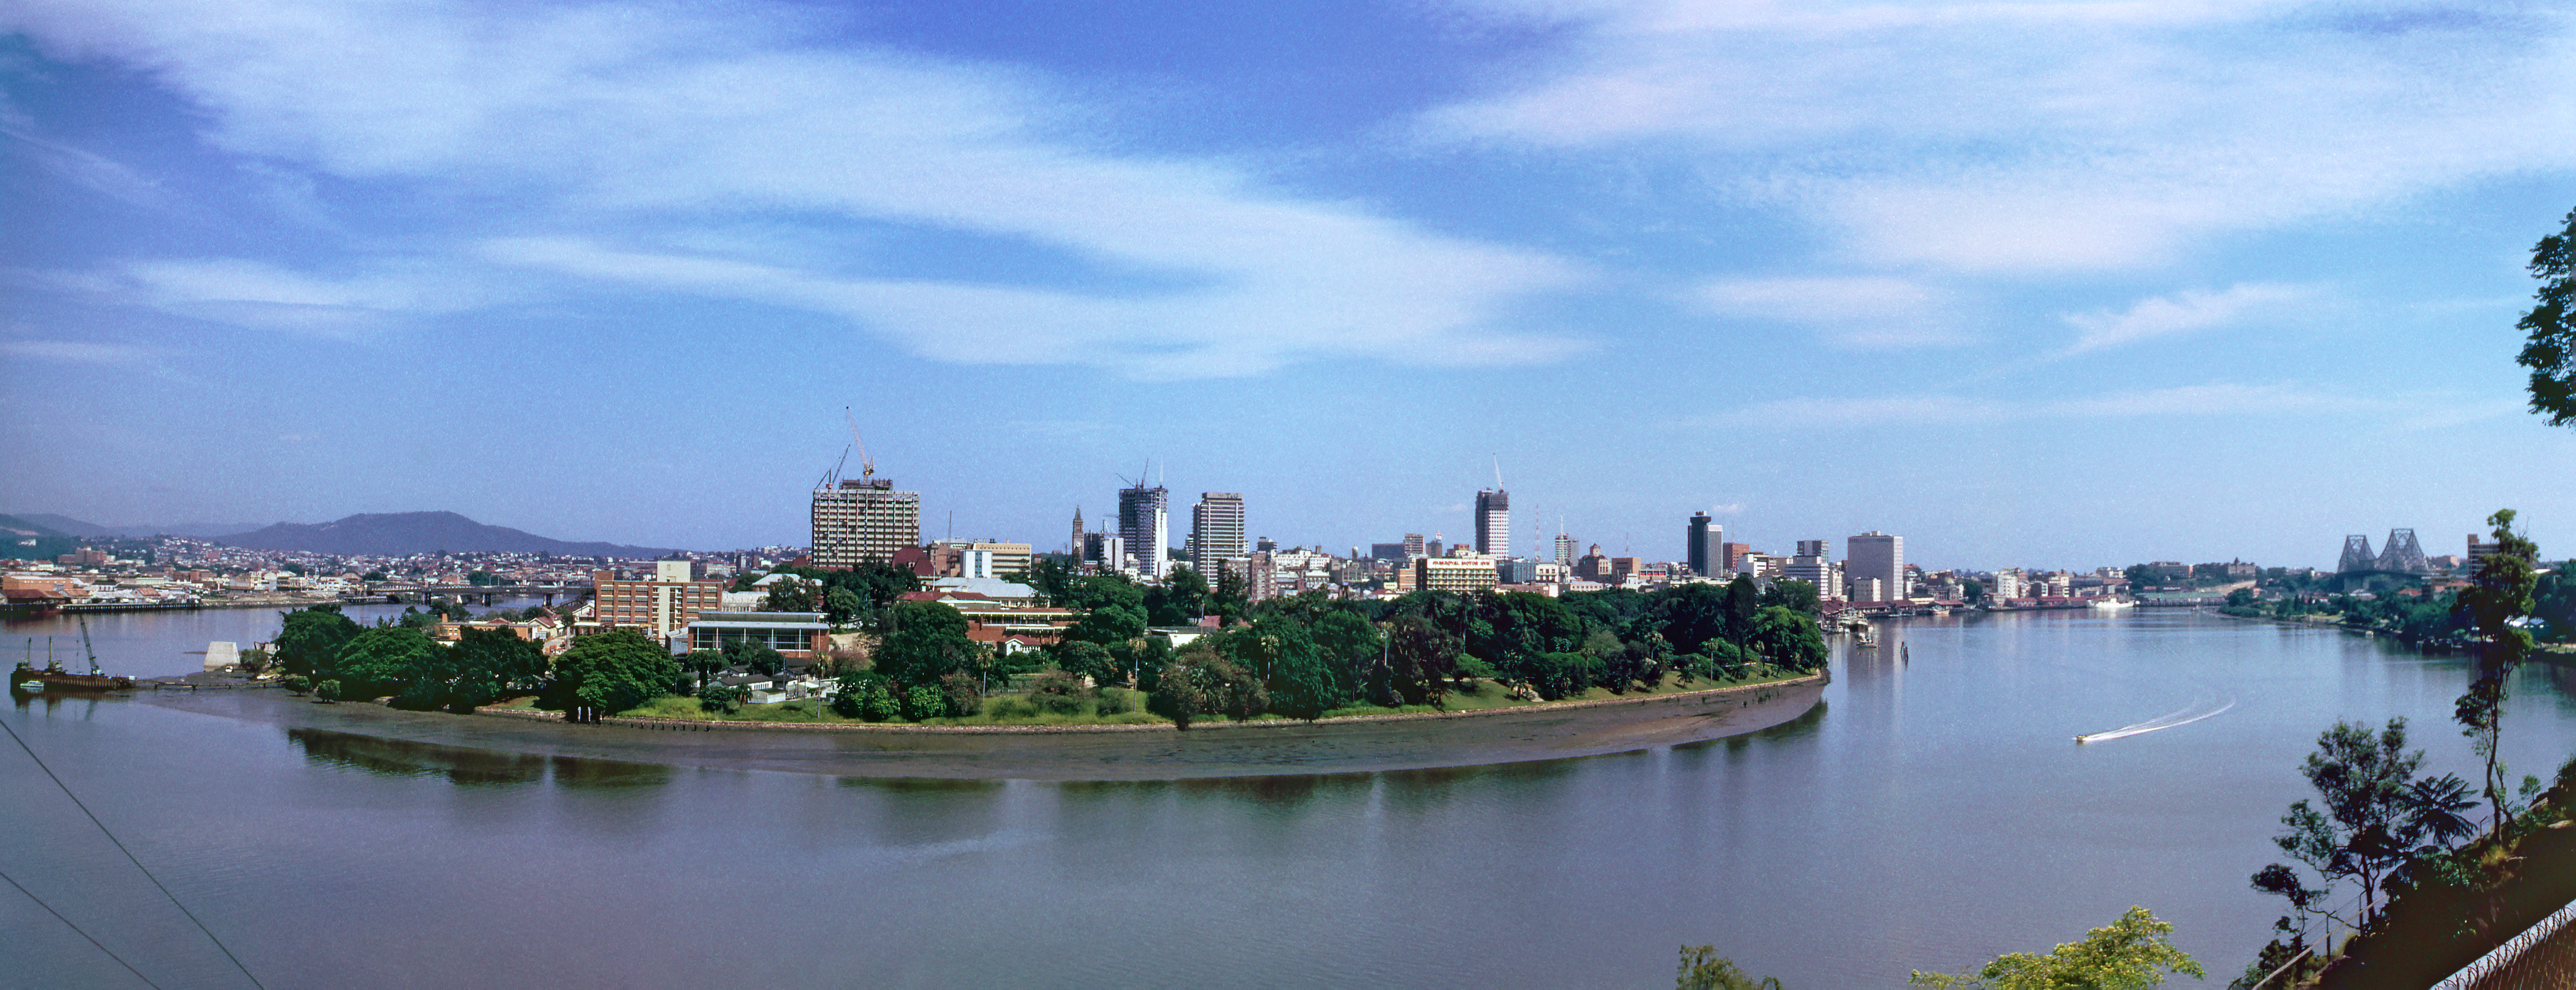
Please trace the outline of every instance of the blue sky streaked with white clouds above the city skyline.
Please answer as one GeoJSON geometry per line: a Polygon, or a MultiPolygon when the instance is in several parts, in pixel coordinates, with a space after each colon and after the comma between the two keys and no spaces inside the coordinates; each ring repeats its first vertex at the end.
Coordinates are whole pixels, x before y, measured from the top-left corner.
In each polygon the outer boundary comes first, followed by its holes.
{"type": "Polygon", "coordinates": [[[804,543],[2576,553],[2563,5],[0,10],[0,507],[804,543]],[[1175,532],[1177,537],[1177,532],[1175,532]]]}

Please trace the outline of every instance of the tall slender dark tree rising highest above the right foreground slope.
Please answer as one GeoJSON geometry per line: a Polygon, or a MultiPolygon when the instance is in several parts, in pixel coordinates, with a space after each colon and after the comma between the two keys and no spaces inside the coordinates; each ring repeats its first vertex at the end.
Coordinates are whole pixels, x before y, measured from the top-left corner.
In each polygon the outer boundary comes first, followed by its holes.
{"type": "Polygon", "coordinates": [[[2506,769],[2496,753],[2496,738],[2504,733],[2504,697],[2512,689],[2514,669],[2532,653],[2532,633],[2514,620],[2532,615],[2532,589],[2537,586],[2537,563],[2532,561],[2540,548],[2514,532],[2514,509],[2496,509],[2486,525],[2496,527],[2496,553],[2478,558],[2478,573],[2452,599],[2452,615],[2465,617],[2478,638],[2476,679],[2452,702],[2452,717],[2478,759],[2486,761],[2486,800],[2494,807],[2494,828],[2501,833],[2512,810],[2506,810],[2506,769]]]}

